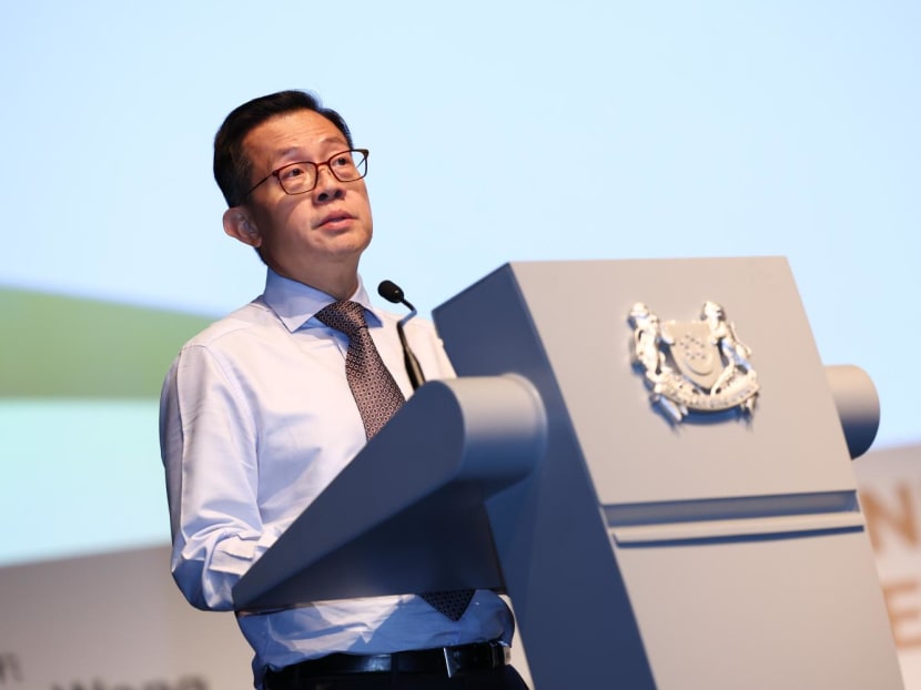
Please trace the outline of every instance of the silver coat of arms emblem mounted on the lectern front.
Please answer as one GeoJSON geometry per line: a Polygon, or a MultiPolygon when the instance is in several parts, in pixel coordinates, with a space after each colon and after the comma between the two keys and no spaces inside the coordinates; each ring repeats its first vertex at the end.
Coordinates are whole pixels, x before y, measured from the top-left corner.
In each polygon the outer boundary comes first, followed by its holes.
{"type": "Polygon", "coordinates": [[[755,410],[758,375],[751,348],[716,302],[705,302],[698,321],[660,322],[642,302],[629,314],[634,328],[632,359],[644,373],[650,400],[675,422],[690,410],[755,410]]]}

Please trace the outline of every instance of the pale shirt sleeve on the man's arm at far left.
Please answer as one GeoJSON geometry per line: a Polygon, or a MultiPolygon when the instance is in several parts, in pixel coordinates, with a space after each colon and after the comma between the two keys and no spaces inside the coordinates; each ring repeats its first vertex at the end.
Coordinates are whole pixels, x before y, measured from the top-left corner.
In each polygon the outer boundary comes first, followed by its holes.
{"type": "Polygon", "coordinates": [[[232,588],[279,537],[260,515],[256,418],[203,346],[173,362],[161,396],[172,574],[201,609],[233,608],[232,588]]]}

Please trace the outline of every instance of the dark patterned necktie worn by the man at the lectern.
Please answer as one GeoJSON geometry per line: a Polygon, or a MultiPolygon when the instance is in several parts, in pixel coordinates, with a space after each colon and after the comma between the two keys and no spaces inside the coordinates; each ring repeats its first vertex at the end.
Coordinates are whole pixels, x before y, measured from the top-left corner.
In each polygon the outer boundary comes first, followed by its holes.
{"type": "MultiPolygon", "coordinates": [[[[364,307],[357,302],[333,302],[316,318],[348,336],[345,378],[355,397],[368,440],[394,416],[405,398],[367,331],[364,307]]],[[[429,606],[452,620],[459,620],[473,599],[473,589],[421,593],[429,606]]]]}

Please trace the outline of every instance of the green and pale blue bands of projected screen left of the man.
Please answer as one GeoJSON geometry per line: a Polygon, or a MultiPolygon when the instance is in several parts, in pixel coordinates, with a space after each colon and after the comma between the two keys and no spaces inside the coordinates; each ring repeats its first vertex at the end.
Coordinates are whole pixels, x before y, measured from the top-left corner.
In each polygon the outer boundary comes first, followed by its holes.
{"type": "Polygon", "coordinates": [[[0,565],[169,540],[158,396],[208,321],[0,291],[0,565]]]}

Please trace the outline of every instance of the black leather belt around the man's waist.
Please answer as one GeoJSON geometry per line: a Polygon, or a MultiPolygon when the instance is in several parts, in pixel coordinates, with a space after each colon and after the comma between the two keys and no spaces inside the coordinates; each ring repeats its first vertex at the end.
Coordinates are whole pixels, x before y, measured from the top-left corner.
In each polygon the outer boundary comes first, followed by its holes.
{"type": "Polygon", "coordinates": [[[479,642],[458,647],[438,647],[391,655],[330,655],[320,659],[269,670],[265,684],[296,688],[302,680],[342,673],[437,673],[452,678],[473,670],[497,669],[508,663],[509,650],[499,642],[479,642]]]}

